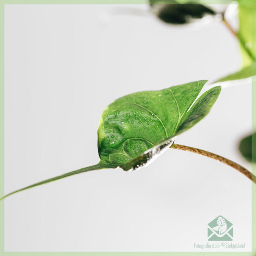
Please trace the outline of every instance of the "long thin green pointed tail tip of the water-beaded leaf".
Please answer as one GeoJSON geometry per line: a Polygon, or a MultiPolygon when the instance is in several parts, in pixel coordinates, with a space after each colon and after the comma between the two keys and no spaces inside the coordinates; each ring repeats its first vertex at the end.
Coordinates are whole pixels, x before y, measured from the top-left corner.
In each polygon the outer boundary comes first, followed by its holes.
{"type": "Polygon", "coordinates": [[[40,185],[43,185],[43,184],[46,184],[46,183],[49,183],[49,182],[52,182],[52,181],[55,181],[55,180],[60,180],[60,179],[63,179],[65,177],[69,177],[69,176],[72,176],[72,175],[76,175],[76,174],[79,174],[79,173],[82,173],[82,172],[88,172],[88,171],[93,171],[93,170],[99,170],[99,169],[106,169],[106,168],[115,168],[116,166],[111,166],[110,164],[101,164],[101,163],[97,163],[93,166],[87,166],[87,167],[84,167],[84,168],[81,168],[81,169],[78,169],[76,171],[72,171],[72,172],[67,172],[67,173],[64,173],[62,175],[59,175],[59,176],[56,176],[56,177],[52,177],[50,179],[47,179],[47,180],[43,180],[43,181],[40,181],[38,183],[35,183],[35,184],[32,184],[30,186],[26,186],[22,189],[18,189],[18,190],[15,190],[5,196],[3,196],[2,198],[0,198],[0,200],[2,200],[3,198],[6,198],[8,197],[9,195],[13,195],[17,192],[20,192],[22,190],[26,190],[26,189],[30,189],[30,188],[33,188],[35,186],[40,186],[40,185]]]}

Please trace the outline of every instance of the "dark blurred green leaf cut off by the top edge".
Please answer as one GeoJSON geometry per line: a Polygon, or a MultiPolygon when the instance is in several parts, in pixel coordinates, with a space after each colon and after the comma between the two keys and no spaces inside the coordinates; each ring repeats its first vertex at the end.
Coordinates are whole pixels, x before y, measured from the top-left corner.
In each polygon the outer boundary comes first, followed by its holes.
{"type": "Polygon", "coordinates": [[[151,0],[150,3],[152,11],[166,23],[185,24],[194,19],[201,19],[207,14],[215,15],[212,9],[197,3],[180,4],[175,0],[151,0]]]}

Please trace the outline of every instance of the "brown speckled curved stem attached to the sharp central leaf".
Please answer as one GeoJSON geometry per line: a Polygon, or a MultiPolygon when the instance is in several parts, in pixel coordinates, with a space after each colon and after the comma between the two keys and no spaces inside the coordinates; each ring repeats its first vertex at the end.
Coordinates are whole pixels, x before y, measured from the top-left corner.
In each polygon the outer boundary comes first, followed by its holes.
{"type": "Polygon", "coordinates": [[[172,144],[170,148],[180,149],[180,150],[184,150],[184,151],[190,151],[190,152],[193,152],[195,154],[201,154],[205,157],[210,157],[212,159],[218,160],[221,163],[225,163],[228,166],[231,166],[234,169],[238,170],[239,172],[244,174],[246,177],[248,177],[250,180],[252,180],[254,183],[256,183],[256,176],[255,175],[253,175],[250,171],[245,169],[243,166],[241,166],[238,163],[235,163],[235,162],[233,162],[233,161],[231,161],[231,160],[229,160],[225,157],[221,157],[217,154],[211,153],[209,151],[205,151],[203,149],[192,148],[192,147],[189,147],[189,146],[184,146],[184,145],[179,145],[179,144],[172,144]]]}

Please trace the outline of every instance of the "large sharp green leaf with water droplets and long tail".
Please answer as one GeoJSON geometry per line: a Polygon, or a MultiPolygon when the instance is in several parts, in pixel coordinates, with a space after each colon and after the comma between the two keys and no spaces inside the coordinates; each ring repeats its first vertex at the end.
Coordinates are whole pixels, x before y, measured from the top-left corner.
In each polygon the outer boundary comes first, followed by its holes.
{"type": "Polygon", "coordinates": [[[175,136],[209,113],[221,87],[213,87],[195,101],[205,83],[206,80],[195,81],[116,99],[103,111],[100,119],[98,164],[35,183],[8,195],[81,172],[116,167],[132,170],[144,166],[172,145],[175,136]]]}

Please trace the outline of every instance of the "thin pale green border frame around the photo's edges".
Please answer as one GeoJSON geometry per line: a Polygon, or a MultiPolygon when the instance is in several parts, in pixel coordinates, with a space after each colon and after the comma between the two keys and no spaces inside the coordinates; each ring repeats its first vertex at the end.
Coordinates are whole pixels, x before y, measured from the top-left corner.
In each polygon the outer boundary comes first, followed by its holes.
{"type": "MultiPolygon", "coordinates": [[[[204,4],[227,3],[229,0],[200,0],[204,4]],[[227,2],[226,2],[227,1],[227,2]]],[[[148,4],[147,0],[0,0],[0,197],[4,195],[4,5],[5,4],[148,4]]],[[[256,35],[256,15],[253,16],[253,35],[256,35]]],[[[256,41],[253,41],[253,49],[256,48],[256,41]]],[[[252,125],[256,130],[256,76],[252,79],[252,125]]],[[[253,137],[253,155],[256,155],[256,136],[253,137]]],[[[256,165],[253,166],[253,173],[256,175],[256,165]]],[[[0,201],[0,256],[57,256],[57,255],[85,255],[85,256],[197,256],[206,255],[219,256],[238,255],[256,256],[256,185],[252,184],[252,252],[4,252],[4,200],[0,201]]]]}

